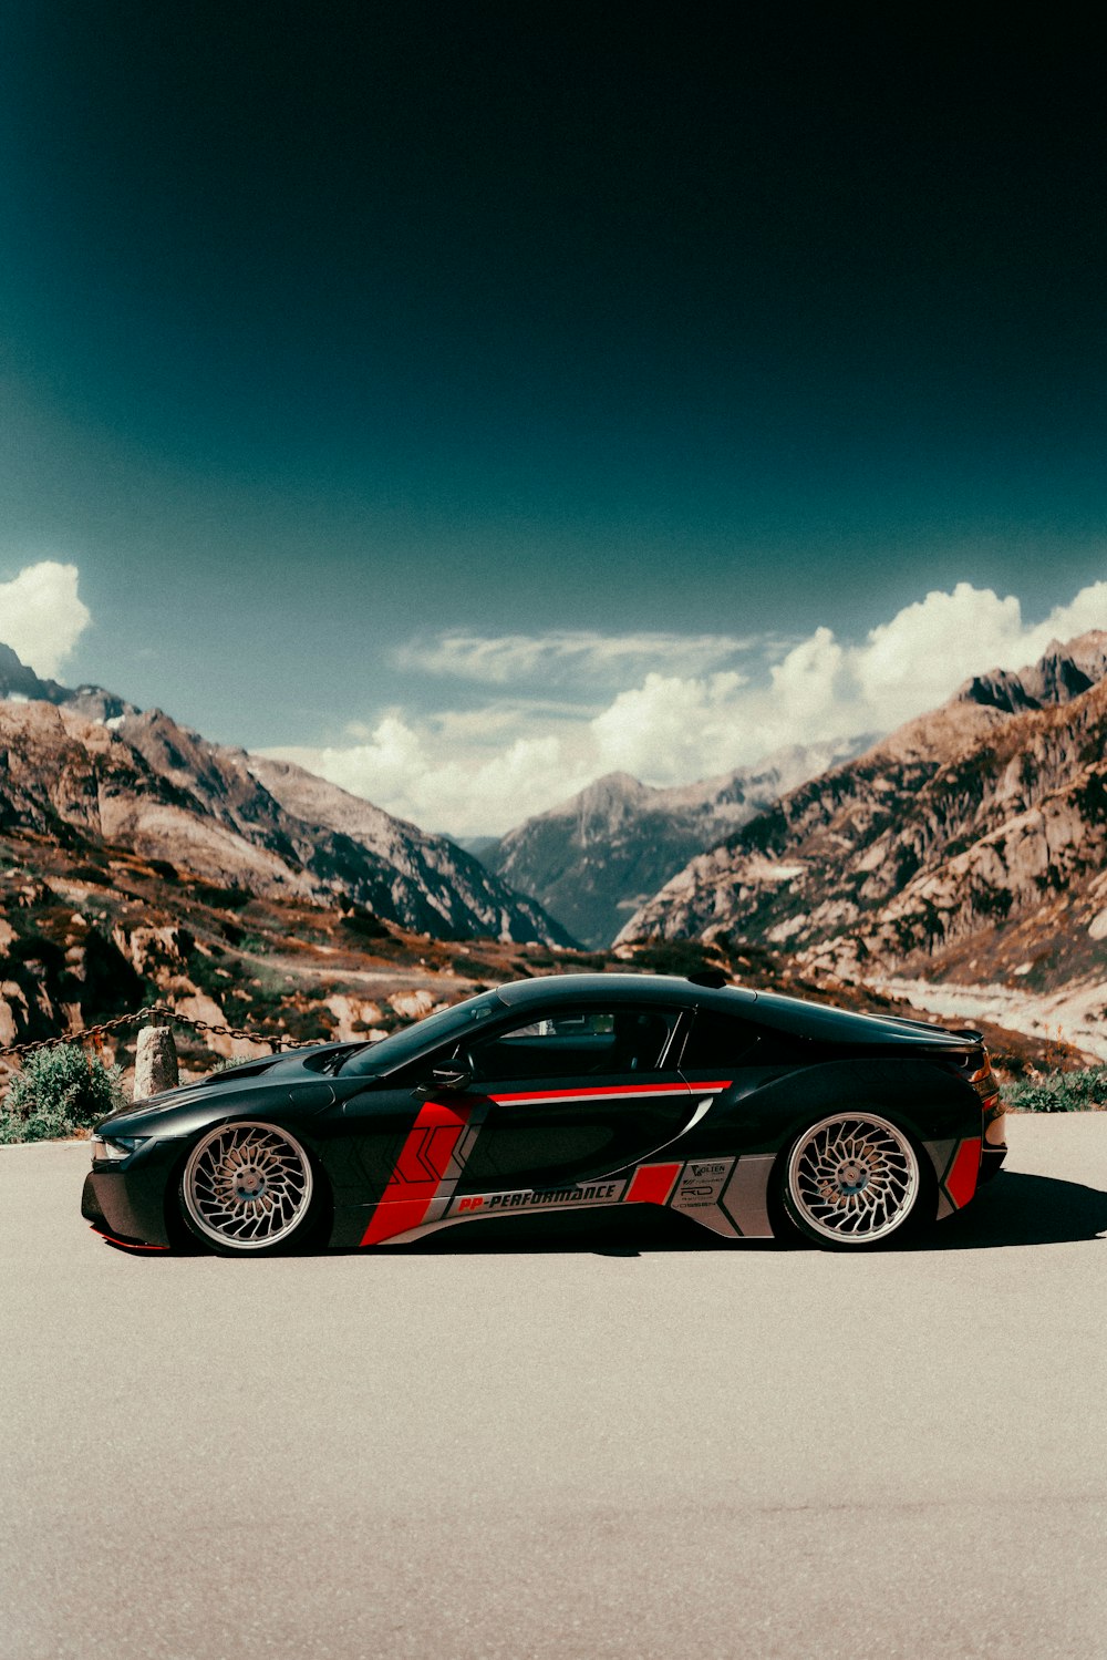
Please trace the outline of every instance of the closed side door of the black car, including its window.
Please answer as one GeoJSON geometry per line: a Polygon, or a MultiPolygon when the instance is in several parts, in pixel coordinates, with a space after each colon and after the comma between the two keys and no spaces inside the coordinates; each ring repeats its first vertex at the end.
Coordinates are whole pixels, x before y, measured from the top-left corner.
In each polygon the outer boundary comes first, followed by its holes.
{"type": "Polygon", "coordinates": [[[480,1130],[458,1195],[558,1189],[624,1170],[690,1117],[680,1011],[558,1009],[466,1049],[480,1130]]]}

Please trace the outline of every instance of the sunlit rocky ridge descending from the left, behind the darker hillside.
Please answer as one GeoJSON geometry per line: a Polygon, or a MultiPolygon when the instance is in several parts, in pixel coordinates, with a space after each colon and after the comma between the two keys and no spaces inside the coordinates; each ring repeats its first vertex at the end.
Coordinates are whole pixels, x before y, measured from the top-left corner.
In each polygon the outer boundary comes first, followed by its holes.
{"type": "Polygon", "coordinates": [[[345,900],[438,938],[571,943],[445,837],[100,687],[37,682],[13,652],[0,669],[2,830],[128,848],[259,896],[345,900]]]}

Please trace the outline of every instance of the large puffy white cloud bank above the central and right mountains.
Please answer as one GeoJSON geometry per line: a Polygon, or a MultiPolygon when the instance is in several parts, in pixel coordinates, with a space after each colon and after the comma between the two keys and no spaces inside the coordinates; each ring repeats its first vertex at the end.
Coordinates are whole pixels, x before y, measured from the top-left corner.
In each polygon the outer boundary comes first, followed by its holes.
{"type": "Polygon", "coordinates": [[[516,696],[422,719],[397,709],[350,729],[349,742],[269,754],[430,830],[496,835],[604,772],[689,784],[788,744],[888,732],[944,702],[969,676],[1021,669],[1052,639],[1094,627],[1107,629],[1107,581],[1032,622],[1016,596],[959,583],[905,606],[856,642],[828,627],[790,646],[722,634],[450,634],[436,646],[405,647],[407,664],[511,686],[516,696]],[[742,657],[742,667],[725,666],[727,657],[742,657]],[[549,702],[566,662],[614,674],[649,667],[599,712],[579,706],[574,715],[549,702]]]}

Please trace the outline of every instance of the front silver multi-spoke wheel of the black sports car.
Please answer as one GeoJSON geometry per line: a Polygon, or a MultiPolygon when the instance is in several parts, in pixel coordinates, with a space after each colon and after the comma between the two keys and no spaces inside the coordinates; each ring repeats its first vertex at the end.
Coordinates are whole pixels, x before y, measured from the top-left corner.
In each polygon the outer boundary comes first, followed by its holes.
{"type": "Polygon", "coordinates": [[[287,1130],[242,1120],[193,1147],[181,1184],[194,1227],[226,1250],[287,1240],[312,1204],[312,1167],[287,1130]]]}

